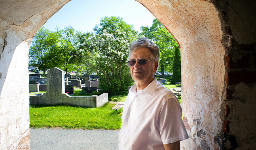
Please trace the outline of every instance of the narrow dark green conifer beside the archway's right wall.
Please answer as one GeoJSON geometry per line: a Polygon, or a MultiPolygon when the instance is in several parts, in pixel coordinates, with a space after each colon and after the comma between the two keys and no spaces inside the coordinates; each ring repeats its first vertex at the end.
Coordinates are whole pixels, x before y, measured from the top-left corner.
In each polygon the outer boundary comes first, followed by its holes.
{"type": "Polygon", "coordinates": [[[180,60],[180,49],[175,49],[174,63],[173,63],[173,78],[171,83],[181,82],[181,60],[180,60]]]}

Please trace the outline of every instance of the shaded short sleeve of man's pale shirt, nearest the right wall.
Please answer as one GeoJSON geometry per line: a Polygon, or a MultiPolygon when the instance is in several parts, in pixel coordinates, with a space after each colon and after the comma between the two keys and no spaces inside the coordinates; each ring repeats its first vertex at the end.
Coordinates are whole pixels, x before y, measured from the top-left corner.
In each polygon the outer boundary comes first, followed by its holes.
{"type": "Polygon", "coordinates": [[[182,109],[178,99],[164,100],[158,117],[159,133],[163,144],[188,139],[188,133],[182,121],[182,109]]]}

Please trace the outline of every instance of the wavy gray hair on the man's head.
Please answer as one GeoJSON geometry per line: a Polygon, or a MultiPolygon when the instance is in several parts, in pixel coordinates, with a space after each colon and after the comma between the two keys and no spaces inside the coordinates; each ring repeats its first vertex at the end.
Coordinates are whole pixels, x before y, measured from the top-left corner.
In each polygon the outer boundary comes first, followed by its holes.
{"type": "Polygon", "coordinates": [[[133,41],[130,45],[130,53],[129,53],[129,60],[131,59],[131,53],[137,50],[140,47],[145,47],[146,49],[150,50],[151,55],[150,59],[159,61],[159,48],[155,45],[152,41],[148,40],[147,38],[139,38],[137,41],[133,41]]]}

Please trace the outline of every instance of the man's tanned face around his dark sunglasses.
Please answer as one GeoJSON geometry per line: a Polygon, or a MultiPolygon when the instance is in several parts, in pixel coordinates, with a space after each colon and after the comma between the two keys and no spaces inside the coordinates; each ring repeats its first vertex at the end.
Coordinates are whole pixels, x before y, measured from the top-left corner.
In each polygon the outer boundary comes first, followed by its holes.
{"type": "MultiPolygon", "coordinates": [[[[150,50],[145,47],[140,47],[131,53],[130,60],[150,60],[150,55],[150,50]]],[[[130,66],[131,77],[135,83],[145,84],[152,81],[154,79],[154,72],[158,67],[158,63],[154,60],[150,60],[145,65],[140,65],[137,61],[134,66],[130,66]]]]}

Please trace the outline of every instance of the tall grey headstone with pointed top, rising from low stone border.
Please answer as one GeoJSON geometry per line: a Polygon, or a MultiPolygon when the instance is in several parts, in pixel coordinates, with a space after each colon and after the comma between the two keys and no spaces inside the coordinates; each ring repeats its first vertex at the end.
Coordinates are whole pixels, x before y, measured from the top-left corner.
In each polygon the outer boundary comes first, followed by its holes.
{"type": "Polygon", "coordinates": [[[47,101],[49,105],[63,103],[62,94],[65,93],[64,71],[55,67],[47,73],[47,101]]]}

